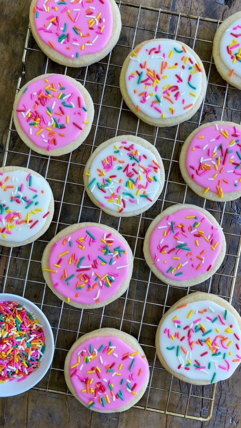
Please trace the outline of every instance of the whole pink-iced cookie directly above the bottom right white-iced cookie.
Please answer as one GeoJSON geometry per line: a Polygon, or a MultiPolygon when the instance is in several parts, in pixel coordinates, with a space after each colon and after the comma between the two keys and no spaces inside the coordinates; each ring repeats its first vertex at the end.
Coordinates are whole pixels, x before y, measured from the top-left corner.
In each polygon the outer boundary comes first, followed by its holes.
{"type": "Polygon", "coordinates": [[[143,253],[161,281],[190,287],[210,278],[223,262],[226,241],[217,220],[203,208],[172,205],[147,229],[143,253]]]}

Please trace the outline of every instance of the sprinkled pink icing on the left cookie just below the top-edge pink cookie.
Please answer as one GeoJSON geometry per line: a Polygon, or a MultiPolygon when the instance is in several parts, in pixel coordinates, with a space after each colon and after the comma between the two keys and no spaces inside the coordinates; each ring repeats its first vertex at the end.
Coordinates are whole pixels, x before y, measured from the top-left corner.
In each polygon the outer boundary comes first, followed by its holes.
{"type": "Polygon", "coordinates": [[[62,74],[30,82],[16,112],[27,137],[48,151],[72,143],[89,123],[82,93],[62,74]]]}

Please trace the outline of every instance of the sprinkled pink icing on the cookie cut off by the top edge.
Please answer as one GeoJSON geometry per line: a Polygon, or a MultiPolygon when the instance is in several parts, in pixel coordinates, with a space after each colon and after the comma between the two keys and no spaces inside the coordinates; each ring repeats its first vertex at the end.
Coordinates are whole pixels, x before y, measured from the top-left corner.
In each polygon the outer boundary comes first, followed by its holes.
{"type": "Polygon", "coordinates": [[[104,49],[112,34],[113,16],[108,0],[39,0],[34,22],[42,42],[75,59],[104,49]]]}

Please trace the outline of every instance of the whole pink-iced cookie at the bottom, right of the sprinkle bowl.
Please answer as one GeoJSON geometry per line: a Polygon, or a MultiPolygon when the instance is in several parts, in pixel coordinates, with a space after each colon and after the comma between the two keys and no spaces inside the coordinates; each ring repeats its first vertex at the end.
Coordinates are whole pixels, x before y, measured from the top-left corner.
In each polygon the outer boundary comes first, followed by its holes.
{"type": "Polygon", "coordinates": [[[88,409],[122,412],[137,403],[149,381],[149,365],[137,340],[115,328],[80,337],[64,367],[71,393],[88,409]]]}

